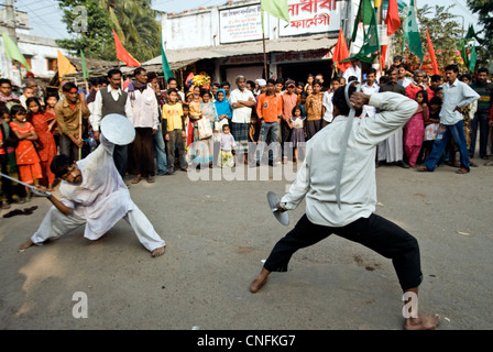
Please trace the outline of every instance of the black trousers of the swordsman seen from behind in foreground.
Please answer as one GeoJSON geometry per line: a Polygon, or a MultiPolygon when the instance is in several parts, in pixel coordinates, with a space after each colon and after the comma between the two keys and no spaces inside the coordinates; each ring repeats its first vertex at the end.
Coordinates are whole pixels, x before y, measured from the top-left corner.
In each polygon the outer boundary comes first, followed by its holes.
{"type": "Polygon", "coordinates": [[[418,287],[421,283],[418,242],[408,232],[377,215],[360,218],[342,228],[315,224],[304,215],[295,228],[275,244],[264,267],[270,272],[286,272],[297,250],[310,246],[332,233],[391,258],[403,290],[418,287]]]}

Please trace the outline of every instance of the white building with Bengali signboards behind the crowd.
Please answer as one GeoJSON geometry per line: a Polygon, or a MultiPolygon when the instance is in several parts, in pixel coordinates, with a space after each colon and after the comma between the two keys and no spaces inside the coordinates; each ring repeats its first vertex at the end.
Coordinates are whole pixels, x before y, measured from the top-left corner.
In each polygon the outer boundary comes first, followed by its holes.
{"type": "MultiPolygon", "coordinates": [[[[322,73],[327,84],[339,29],[343,29],[348,40],[358,3],[358,0],[288,0],[289,23],[264,13],[264,31],[260,0],[228,1],[219,7],[164,13],[163,47],[182,81],[190,72],[206,72],[212,81],[228,80],[234,88],[239,74],[251,80],[265,77],[265,62],[267,77],[305,81],[308,74],[322,73]]],[[[157,68],[161,56],[144,65],[157,68]]]]}

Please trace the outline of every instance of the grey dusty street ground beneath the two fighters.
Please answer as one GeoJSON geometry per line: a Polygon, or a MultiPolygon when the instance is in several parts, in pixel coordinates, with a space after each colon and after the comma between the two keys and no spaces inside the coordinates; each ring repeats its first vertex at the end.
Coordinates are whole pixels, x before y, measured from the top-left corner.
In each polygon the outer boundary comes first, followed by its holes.
{"type": "MultiPolygon", "coordinates": [[[[424,273],[419,310],[439,314],[440,330],[493,328],[487,314],[493,167],[474,162],[480,166],[469,175],[450,166],[435,173],[376,169],[376,213],[417,238],[424,273]]],[[[402,293],[392,263],[336,235],[295,253],[287,273],[273,273],[251,294],[262,261],[303,216],[305,202],[283,227],[270,213],[266,193],[283,195],[289,179],[272,174],[260,180],[193,182],[193,176],[177,172],[130,187],[167,243],[157,258],[123,220],[95,242],[79,228],[20,253],[50,202],[36,197],[12,207],[39,208],[31,216],[0,218],[0,329],[402,329],[402,293]],[[87,318],[75,317],[83,311],[80,297],[87,298],[87,318]]]]}

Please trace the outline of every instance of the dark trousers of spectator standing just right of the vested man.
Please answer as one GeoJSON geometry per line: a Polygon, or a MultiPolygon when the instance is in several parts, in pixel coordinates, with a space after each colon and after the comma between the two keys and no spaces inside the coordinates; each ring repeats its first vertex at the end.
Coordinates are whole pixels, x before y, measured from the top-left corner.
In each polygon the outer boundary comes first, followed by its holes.
{"type": "Polygon", "coordinates": [[[129,150],[129,173],[133,175],[154,176],[154,138],[152,131],[152,128],[135,128],[135,139],[129,150]]]}

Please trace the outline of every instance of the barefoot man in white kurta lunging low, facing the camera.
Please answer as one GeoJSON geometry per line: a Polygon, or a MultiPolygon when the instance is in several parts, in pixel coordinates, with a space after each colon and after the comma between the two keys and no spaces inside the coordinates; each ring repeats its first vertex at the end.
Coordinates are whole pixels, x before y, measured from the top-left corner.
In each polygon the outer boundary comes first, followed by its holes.
{"type": "Polygon", "coordinates": [[[132,201],[128,187],[114,166],[114,144],[102,134],[100,141],[101,144],[96,151],[78,161],[73,169],[67,169],[67,174],[79,170],[80,179],[75,178],[77,183],[74,183],[63,178],[59,186],[62,199],[58,200],[53,195],[48,197],[54,206],[37,231],[21,249],[32,244],[42,245],[46,240],[59,238],[83,224],[86,224],[84,237],[98,240],[119,220],[124,219],[153,256],[163,254],[166,243],[132,201]],[[59,202],[63,206],[59,206],[59,202]]]}

